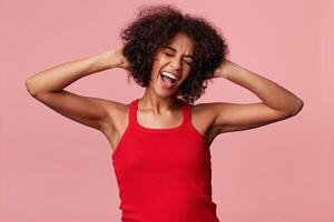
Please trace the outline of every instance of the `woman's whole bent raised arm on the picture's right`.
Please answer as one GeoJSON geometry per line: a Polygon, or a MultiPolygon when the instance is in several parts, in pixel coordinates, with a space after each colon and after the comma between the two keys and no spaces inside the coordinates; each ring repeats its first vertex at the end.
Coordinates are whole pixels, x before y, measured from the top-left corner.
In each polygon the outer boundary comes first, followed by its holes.
{"type": "Polygon", "coordinates": [[[259,103],[209,103],[218,133],[247,130],[296,115],[304,102],[295,94],[257,73],[226,60],[214,78],[225,78],[254,92],[259,103]]]}

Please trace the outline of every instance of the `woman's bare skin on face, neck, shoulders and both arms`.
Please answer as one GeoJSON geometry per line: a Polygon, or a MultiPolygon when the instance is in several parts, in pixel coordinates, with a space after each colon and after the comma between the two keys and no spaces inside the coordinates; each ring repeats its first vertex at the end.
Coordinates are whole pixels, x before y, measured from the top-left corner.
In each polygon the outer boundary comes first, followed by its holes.
{"type": "MultiPolygon", "coordinates": [[[[176,92],[189,75],[193,52],[193,40],[183,33],[178,33],[168,48],[158,50],[153,64],[151,81],[138,103],[137,121],[140,125],[163,129],[175,128],[181,123],[181,104],[176,99],[176,92]],[[163,88],[159,82],[160,71],[177,75],[177,87],[171,90],[163,88]]],[[[27,79],[26,85],[29,93],[47,107],[102,132],[115,151],[128,125],[129,104],[82,97],[65,90],[80,78],[112,68],[129,68],[122,47],[38,72],[27,79]]],[[[214,78],[225,78],[239,84],[263,102],[194,104],[191,123],[205,137],[207,144],[220,133],[258,128],[294,117],[304,104],[299,98],[277,83],[229,60],[215,70],[214,78]]]]}

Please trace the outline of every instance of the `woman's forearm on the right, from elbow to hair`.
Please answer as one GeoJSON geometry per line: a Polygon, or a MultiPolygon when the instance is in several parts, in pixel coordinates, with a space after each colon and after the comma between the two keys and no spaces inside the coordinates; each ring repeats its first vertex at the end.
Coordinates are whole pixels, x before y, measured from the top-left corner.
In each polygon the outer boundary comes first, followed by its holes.
{"type": "Polygon", "coordinates": [[[215,73],[254,92],[266,105],[296,113],[303,107],[303,101],[295,94],[257,73],[254,73],[234,62],[227,60],[224,67],[215,73]]]}

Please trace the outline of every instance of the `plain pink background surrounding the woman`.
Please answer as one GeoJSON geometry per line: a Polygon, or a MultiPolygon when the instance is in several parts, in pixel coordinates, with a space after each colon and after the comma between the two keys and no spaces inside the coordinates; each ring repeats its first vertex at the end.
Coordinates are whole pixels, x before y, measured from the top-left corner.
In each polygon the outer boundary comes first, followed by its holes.
{"type": "MultiPolygon", "coordinates": [[[[150,2],[1,0],[0,221],[120,220],[112,150],[105,137],[35,100],[24,81],[51,65],[118,47],[120,28],[138,6],[150,2]]],[[[213,199],[220,221],[334,221],[333,3],[169,2],[213,21],[227,39],[232,61],[305,103],[292,119],[216,138],[213,199]]],[[[144,92],[127,82],[121,69],[67,89],[124,103],[144,92]]],[[[209,101],[259,100],[217,79],[197,102],[209,101]]]]}

